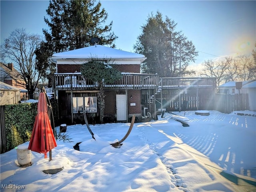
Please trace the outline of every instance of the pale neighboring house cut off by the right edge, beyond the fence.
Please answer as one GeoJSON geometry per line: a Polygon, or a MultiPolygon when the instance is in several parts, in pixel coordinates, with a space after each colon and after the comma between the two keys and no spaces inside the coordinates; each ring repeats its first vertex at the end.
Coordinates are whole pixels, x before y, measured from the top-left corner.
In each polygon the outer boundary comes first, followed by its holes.
{"type": "Polygon", "coordinates": [[[256,111],[256,80],[244,85],[241,92],[248,94],[249,110],[256,111]]]}

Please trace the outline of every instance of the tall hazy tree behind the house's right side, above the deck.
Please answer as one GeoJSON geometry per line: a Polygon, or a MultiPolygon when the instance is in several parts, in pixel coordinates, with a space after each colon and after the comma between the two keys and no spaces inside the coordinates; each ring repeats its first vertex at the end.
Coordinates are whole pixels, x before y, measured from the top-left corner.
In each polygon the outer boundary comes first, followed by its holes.
{"type": "Polygon", "coordinates": [[[188,71],[189,62],[198,55],[195,46],[176,31],[177,23],[157,12],[148,16],[147,24],[142,26],[142,34],[134,45],[136,52],[147,59],[142,63],[144,73],[158,73],[160,77],[179,77],[194,71],[188,71]],[[180,67],[181,62],[181,67],[180,67]]]}

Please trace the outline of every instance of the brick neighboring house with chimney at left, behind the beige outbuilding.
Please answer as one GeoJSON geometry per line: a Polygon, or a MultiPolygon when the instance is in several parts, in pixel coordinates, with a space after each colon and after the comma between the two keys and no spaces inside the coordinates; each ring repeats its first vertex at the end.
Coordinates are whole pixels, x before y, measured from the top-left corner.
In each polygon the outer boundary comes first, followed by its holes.
{"type": "Polygon", "coordinates": [[[19,88],[21,99],[27,99],[28,90],[24,88],[25,81],[22,79],[21,74],[14,69],[13,63],[0,63],[0,81],[19,88]]]}

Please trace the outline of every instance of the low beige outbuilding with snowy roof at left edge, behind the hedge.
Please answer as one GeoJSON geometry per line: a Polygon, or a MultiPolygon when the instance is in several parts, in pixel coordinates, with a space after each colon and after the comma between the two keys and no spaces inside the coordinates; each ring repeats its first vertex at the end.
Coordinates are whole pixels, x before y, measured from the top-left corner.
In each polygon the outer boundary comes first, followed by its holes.
{"type": "Polygon", "coordinates": [[[20,89],[0,82],[0,105],[17,104],[20,101],[20,89]]]}

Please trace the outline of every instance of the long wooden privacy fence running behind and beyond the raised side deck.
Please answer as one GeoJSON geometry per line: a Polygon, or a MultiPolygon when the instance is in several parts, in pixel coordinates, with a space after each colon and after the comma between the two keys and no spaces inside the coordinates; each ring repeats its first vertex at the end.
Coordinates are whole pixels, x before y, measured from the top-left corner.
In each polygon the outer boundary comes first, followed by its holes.
{"type": "Polygon", "coordinates": [[[180,95],[178,90],[174,92],[175,90],[168,90],[167,93],[164,90],[162,96],[157,95],[156,109],[160,110],[162,107],[166,111],[216,110],[221,113],[249,109],[248,94],[219,94],[214,93],[213,89],[199,89],[198,91],[188,89],[186,94],[180,93],[180,95]]]}

